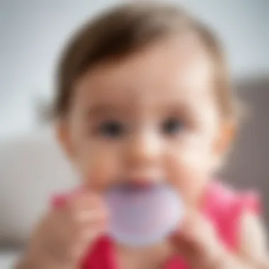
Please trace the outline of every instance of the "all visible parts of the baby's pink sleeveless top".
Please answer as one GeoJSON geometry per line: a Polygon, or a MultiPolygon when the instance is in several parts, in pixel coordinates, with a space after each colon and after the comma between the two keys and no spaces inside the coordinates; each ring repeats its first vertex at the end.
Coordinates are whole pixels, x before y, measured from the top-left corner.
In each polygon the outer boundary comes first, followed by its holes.
{"type": "MultiPolygon", "coordinates": [[[[57,196],[55,206],[66,200],[67,196],[57,196]]],[[[202,214],[213,224],[219,239],[230,251],[239,246],[239,219],[244,210],[254,214],[260,212],[260,203],[256,193],[236,193],[221,183],[212,183],[207,189],[202,214]]],[[[117,259],[113,251],[113,241],[104,236],[86,253],[81,269],[117,269],[117,259]]],[[[188,269],[181,257],[171,258],[164,269],[188,269]]]]}

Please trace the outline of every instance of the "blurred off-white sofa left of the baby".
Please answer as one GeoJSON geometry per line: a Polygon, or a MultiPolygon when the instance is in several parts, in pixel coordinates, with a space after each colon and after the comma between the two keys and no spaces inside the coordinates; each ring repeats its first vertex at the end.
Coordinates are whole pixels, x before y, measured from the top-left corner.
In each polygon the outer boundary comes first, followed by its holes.
{"type": "Polygon", "coordinates": [[[0,246],[24,243],[50,195],[74,184],[52,132],[1,141],[0,246]]]}

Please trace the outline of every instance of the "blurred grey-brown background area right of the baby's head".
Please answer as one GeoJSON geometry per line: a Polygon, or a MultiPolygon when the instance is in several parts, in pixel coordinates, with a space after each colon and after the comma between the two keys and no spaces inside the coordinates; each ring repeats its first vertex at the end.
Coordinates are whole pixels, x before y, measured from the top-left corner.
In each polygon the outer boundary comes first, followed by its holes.
{"type": "Polygon", "coordinates": [[[269,77],[245,79],[236,88],[246,117],[239,125],[222,176],[240,190],[258,191],[269,228],[269,77]]]}

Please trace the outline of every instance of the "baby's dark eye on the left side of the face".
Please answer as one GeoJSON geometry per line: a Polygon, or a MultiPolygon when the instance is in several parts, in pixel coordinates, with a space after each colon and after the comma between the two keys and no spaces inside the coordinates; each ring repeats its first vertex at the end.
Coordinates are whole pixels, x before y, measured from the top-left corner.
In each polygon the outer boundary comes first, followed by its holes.
{"type": "Polygon", "coordinates": [[[118,138],[125,134],[125,126],[121,122],[110,120],[101,124],[99,133],[105,137],[118,138]]]}

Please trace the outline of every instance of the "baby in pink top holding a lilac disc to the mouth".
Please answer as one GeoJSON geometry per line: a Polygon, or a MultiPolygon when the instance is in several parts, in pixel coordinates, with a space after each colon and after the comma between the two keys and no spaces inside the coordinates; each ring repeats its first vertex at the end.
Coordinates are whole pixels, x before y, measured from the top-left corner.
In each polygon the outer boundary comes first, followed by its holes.
{"type": "Polygon", "coordinates": [[[258,200],[214,180],[236,113],[222,50],[200,22],[139,3],[86,23],[59,63],[55,108],[83,188],[57,197],[18,269],[269,268],[258,200]],[[140,248],[104,236],[103,195],[122,182],[180,193],[178,231],[140,248]]]}

